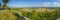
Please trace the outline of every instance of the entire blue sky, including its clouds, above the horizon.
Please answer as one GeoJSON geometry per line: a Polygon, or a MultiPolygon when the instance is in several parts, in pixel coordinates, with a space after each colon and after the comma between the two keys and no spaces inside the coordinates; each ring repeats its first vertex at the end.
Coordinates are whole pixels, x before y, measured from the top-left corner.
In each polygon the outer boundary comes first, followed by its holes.
{"type": "MultiPolygon", "coordinates": [[[[0,0],[2,2],[2,0],[0,0]]],[[[9,0],[9,7],[59,7],[60,0],[9,0]]]]}

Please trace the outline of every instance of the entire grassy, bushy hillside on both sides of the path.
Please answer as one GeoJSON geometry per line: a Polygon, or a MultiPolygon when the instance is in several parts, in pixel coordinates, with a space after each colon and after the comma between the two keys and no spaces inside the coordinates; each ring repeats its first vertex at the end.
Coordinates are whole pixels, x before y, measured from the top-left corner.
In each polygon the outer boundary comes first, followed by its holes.
{"type": "Polygon", "coordinates": [[[23,16],[31,20],[54,20],[60,17],[60,9],[46,8],[12,8],[11,10],[0,10],[0,20],[16,20],[12,10],[21,12],[23,16]]]}

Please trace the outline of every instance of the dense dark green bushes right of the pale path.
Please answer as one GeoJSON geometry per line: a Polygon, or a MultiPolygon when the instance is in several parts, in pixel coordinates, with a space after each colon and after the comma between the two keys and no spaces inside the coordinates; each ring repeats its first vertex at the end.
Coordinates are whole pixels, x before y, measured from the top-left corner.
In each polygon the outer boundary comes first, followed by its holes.
{"type": "Polygon", "coordinates": [[[32,10],[32,12],[26,12],[24,14],[32,20],[53,20],[54,17],[60,16],[59,12],[60,10],[55,10],[53,12],[36,12],[35,10],[32,10]]]}

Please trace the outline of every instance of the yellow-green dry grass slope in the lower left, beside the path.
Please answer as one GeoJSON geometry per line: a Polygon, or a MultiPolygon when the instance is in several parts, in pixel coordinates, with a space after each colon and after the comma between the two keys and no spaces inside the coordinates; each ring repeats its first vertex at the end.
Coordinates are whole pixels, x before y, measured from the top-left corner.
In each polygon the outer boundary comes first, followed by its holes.
{"type": "Polygon", "coordinates": [[[0,12],[0,20],[16,20],[16,17],[8,10],[0,12]]]}

